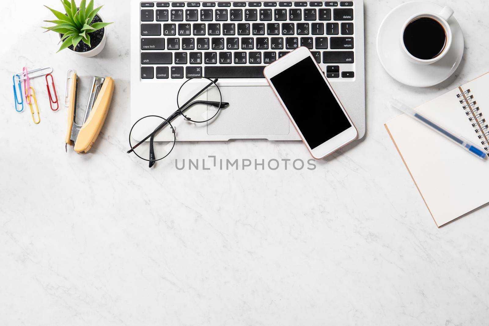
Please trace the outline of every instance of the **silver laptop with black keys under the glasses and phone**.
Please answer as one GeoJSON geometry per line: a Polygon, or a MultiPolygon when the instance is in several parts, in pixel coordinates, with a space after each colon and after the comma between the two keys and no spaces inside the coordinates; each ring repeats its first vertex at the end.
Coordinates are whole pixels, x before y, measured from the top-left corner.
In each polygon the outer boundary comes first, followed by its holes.
{"type": "MultiPolygon", "coordinates": [[[[365,134],[363,1],[131,0],[131,123],[169,117],[189,78],[219,78],[229,106],[207,123],[172,122],[178,141],[300,140],[263,77],[306,46],[365,134]]],[[[307,109],[307,108],[305,108],[307,109]]]]}

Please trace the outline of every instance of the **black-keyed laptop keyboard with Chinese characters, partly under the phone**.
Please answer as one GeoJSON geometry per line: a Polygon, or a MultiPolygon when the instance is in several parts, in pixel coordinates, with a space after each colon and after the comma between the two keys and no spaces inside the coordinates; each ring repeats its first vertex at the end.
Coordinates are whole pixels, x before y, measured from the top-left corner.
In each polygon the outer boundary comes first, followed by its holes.
{"type": "Polygon", "coordinates": [[[354,1],[140,2],[141,79],[264,78],[306,46],[328,78],[355,78],[354,1]]]}

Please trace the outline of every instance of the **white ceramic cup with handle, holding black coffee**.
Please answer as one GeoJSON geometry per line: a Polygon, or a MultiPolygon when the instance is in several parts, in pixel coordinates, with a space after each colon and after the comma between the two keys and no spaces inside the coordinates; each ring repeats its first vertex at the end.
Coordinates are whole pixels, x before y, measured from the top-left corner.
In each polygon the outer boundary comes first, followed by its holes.
{"type": "Polygon", "coordinates": [[[415,64],[419,65],[429,65],[437,62],[438,60],[442,59],[445,54],[448,52],[450,49],[450,46],[452,45],[452,31],[450,29],[450,25],[448,24],[447,20],[453,15],[453,10],[450,7],[445,6],[442,11],[440,11],[438,14],[432,13],[432,12],[421,12],[419,14],[411,16],[403,25],[400,30],[400,47],[406,54],[406,57],[409,61],[414,62],[415,64]],[[420,59],[416,58],[413,56],[409,51],[407,50],[406,46],[404,45],[404,30],[406,29],[407,25],[409,25],[411,22],[418,18],[431,18],[442,25],[443,29],[445,30],[445,47],[443,48],[442,52],[434,57],[433,59],[420,59]]]}

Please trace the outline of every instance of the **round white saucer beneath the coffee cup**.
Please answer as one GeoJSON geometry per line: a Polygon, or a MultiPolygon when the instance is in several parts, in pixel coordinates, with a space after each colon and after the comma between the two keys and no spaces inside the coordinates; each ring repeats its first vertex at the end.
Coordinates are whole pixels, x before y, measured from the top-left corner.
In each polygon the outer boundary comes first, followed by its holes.
{"type": "Polygon", "coordinates": [[[384,18],[377,33],[377,54],[380,63],[392,78],[414,87],[440,84],[457,69],[464,55],[464,36],[455,18],[448,23],[452,30],[452,46],[445,57],[431,65],[417,65],[406,59],[400,47],[400,29],[409,17],[423,12],[439,13],[443,7],[427,1],[402,3],[384,18]]]}

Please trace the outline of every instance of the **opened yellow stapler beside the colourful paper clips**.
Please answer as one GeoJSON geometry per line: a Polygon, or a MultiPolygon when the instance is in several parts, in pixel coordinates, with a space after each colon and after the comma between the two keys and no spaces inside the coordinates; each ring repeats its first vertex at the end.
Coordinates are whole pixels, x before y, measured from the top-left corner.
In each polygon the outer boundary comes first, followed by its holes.
{"type": "Polygon", "coordinates": [[[77,125],[75,116],[78,76],[76,75],[76,72],[73,71],[71,77],[68,78],[71,78],[71,85],[67,90],[69,95],[68,130],[65,137],[65,143],[67,145],[74,145],[75,152],[83,154],[88,152],[93,146],[104,125],[105,118],[107,117],[112,102],[114,80],[111,77],[93,77],[85,116],[82,124],[77,125]]]}

